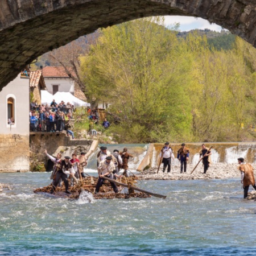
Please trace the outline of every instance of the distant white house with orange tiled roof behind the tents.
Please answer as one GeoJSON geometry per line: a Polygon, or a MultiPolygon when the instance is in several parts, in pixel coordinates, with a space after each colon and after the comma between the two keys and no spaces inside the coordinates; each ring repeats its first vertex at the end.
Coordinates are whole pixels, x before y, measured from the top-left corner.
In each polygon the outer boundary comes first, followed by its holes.
{"type": "Polygon", "coordinates": [[[75,81],[68,76],[63,67],[44,67],[44,81],[49,93],[69,92],[75,94],[75,81]]]}

